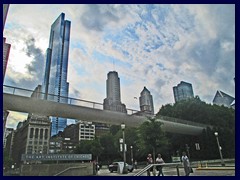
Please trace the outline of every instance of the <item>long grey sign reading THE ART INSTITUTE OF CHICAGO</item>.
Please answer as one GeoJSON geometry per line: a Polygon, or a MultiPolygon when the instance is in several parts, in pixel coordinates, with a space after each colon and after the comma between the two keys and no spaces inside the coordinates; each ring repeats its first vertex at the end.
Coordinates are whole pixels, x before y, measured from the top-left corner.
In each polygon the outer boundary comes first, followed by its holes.
{"type": "Polygon", "coordinates": [[[92,160],[92,154],[22,154],[22,161],[92,160]]]}

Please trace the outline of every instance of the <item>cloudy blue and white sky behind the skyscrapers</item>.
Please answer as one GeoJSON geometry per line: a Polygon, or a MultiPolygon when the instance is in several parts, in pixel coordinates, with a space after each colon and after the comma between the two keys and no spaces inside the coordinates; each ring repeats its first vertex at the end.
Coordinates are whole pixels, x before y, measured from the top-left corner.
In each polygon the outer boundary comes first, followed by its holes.
{"type": "MultiPolygon", "coordinates": [[[[11,44],[4,84],[33,90],[43,82],[50,28],[60,13],[71,21],[69,97],[103,103],[109,71],[117,71],[121,101],[139,110],[144,86],[155,113],[173,104],[173,86],[193,86],[212,103],[217,90],[235,97],[235,5],[11,4],[5,29],[11,44]]],[[[7,127],[26,119],[11,112],[7,127]]]]}

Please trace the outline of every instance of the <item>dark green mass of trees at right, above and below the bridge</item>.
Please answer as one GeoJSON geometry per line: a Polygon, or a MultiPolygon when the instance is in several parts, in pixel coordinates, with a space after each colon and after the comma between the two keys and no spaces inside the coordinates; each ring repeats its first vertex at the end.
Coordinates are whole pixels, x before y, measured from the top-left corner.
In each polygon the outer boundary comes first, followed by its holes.
{"type": "Polygon", "coordinates": [[[216,159],[219,158],[218,146],[214,132],[219,133],[219,141],[225,158],[235,157],[235,110],[224,106],[206,104],[198,97],[167,104],[157,113],[160,116],[168,116],[188,120],[192,122],[208,124],[213,129],[207,128],[198,137],[167,134],[171,141],[172,153],[186,151],[186,144],[190,147],[192,159],[216,159]],[[200,151],[196,150],[195,143],[200,144],[200,151]]]}

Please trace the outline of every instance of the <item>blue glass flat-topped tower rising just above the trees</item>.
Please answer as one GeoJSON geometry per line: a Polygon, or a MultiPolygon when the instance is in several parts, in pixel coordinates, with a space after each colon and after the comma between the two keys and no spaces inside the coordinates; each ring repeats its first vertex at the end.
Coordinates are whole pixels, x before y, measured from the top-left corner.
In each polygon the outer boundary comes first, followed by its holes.
{"type": "Polygon", "coordinates": [[[193,98],[192,84],[181,81],[180,84],[173,87],[175,102],[193,98]]]}

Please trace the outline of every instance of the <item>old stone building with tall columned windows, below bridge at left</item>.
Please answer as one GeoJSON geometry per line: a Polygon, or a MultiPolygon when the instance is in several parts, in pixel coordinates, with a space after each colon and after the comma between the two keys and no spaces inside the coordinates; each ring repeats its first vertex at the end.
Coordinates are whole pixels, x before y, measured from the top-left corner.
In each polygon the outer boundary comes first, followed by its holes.
{"type": "Polygon", "coordinates": [[[36,115],[29,115],[27,120],[18,124],[12,143],[15,163],[21,163],[22,154],[48,154],[50,125],[48,118],[36,115]]]}

